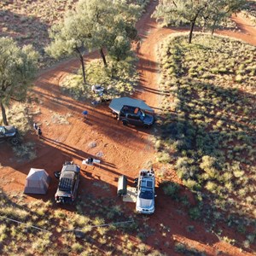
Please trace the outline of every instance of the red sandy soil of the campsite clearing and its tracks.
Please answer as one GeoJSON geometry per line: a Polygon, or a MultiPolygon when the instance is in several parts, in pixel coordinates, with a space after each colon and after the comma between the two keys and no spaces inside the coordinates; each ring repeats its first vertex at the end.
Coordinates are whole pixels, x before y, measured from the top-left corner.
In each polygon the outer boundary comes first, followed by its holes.
{"type": "MultiPolygon", "coordinates": [[[[142,43],[137,47],[139,57],[138,71],[140,73],[140,85],[135,96],[143,99],[149,106],[159,111],[160,91],[158,90],[158,66],[156,59],[156,46],[173,32],[180,32],[181,29],[160,28],[155,20],[151,19],[157,2],[151,1],[148,10],[143,18],[138,22],[137,29],[141,36],[142,43]]],[[[241,16],[234,16],[233,20],[239,27],[239,31],[218,31],[219,34],[232,38],[240,38],[249,44],[256,45],[256,29],[241,16]]],[[[86,56],[90,61],[96,54],[86,56]]],[[[126,127],[113,119],[107,106],[92,107],[90,102],[77,102],[69,96],[61,93],[59,83],[68,73],[79,67],[79,61],[66,61],[43,71],[36,80],[33,92],[40,99],[40,104],[33,105],[32,110],[40,108],[41,113],[36,115],[34,121],[42,124],[44,138],[39,140],[35,134],[26,136],[26,141],[35,141],[37,158],[29,162],[17,162],[11,150],[3,152],[1,156],[1,181],[0,187],[3,191],[20,192],[24,189],[26,175],[31,167],[44,168],[53,177],[47,198],[53,198],[57,187],[57,180],[54,172],[60,170],[64,160],[73,160],[80,166],[82,160],[97,153],[102,153],[100,166],[82,166],[82,181],[80,189],[103,196],[101,191],[97,191],[91,181],[102,181],[111,187],[112,196],[116,196],[117,178],[120,174],[125,174],[130,181],[137,177],[137,173],[143,167],[154,166],[156,172],[160,166],[154,162],[154,145],[151,142],[155,128],[144,130],[134,127],[126,127]],[[88,120],[84,121],[82,111],[88,110],[88,120]],[[58,125],[50,122],[54,113],[65,115],[71,113],[68,118],[69,125],[58,125]],[[95,142],[96,147],[90,148],[89,143],[95,142]]],[[[175,173],[171,171],[174,181],[177,181],[175,173]]],[[[155,229],[154,238],[159,238],[159,245],[155,245],[153,238],[146,242],[150,247],[160,250],[167,255],[176,255],[173,246],[175,241],[195,247],[200,251],[205,251],[207,255],[253,255],[241,251],[238,247],[230,246],[223,241],[218,241],[218,237],[207,233],[200,221],[191,221],[188,214],[178,214],[178,203],[167,198],[161,189],[157,189],[156,211],[148,219],[148,224],[155,229]],[[166,205],[166,201],[168,204],[166,205]],[[166,231],[163,238],[163,230],[160,224],[171,227],[170,232],[166,231]],[[195,232],[188,232],[186,227],[195,226],[195,232]],[[152,241],[151,241],[152,240],[152,241]],[[169,246],[166,247],[166,241],[169,246]],[[221,253],[220,253],[221,252],[221,253]]],[[[34,198],[30,198],[34,200],[34,198]]],[[[134,208],[133,204],[128,204],[134,208]]],[[[228,237],[239,236],[232,233],[232,230],[224,230],[224,235],[228,237]]]]}

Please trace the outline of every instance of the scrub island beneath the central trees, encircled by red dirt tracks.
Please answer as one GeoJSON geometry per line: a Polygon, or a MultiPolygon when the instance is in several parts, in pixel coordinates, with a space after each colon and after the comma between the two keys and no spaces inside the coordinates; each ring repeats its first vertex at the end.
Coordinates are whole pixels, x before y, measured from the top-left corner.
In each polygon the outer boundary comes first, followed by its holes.
{"type": "Polygon", "coordinates": [[[104,67],[100,60],[91,61],[86,65],[86,74],[87,84],[83,83],[83,76],[79,70],[78,73],[68,75],[61,81],[61,90],[77,100],[97,98],[97,94],[91,91],[91,86],[101,84],[105,88],[104,97],[110,99],[120,95],[131,95],[138,80],[132,59],[109,61],[108,67],[104,67]]]}

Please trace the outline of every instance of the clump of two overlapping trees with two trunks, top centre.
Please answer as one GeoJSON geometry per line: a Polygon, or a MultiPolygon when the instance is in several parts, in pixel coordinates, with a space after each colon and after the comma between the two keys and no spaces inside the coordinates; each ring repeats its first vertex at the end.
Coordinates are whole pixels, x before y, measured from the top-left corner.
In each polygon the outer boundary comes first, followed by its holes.
{"type": "Polygon", "coordinates": [[[107,67],[103,50],[110,49],[120,36],[134,37],[140,10],[139,6],[121,0],[80,0],[75,10],[69,11],[63,21],[50,28],[52,42],[46,51],[55,58],[79,55],[85,84],[83,50],[99,49],[107,67]]]}

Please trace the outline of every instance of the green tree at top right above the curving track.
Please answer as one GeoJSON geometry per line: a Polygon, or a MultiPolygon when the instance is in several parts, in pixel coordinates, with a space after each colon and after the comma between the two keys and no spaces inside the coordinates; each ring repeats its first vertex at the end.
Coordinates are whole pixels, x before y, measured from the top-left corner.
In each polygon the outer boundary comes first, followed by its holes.
{"type": "Polygon", "coordinates": [[[179,26],[189,23],[189,44],[192,41],[195,25],[212,24],[221,21],[241,9],[244,0],[162,0],[153,16],[162,19],[166,25],[179,26]]]}

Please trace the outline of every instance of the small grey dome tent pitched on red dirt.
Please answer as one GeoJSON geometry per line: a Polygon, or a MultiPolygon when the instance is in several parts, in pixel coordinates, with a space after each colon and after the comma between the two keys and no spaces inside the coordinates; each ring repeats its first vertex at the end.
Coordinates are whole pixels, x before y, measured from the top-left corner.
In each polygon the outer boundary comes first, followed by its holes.
{"type": "Polygon", "coordinates": [[[44,169],[31,168],[26,177],[24,193],[46,194],[49,187],[49,174],[44,169]]]}

